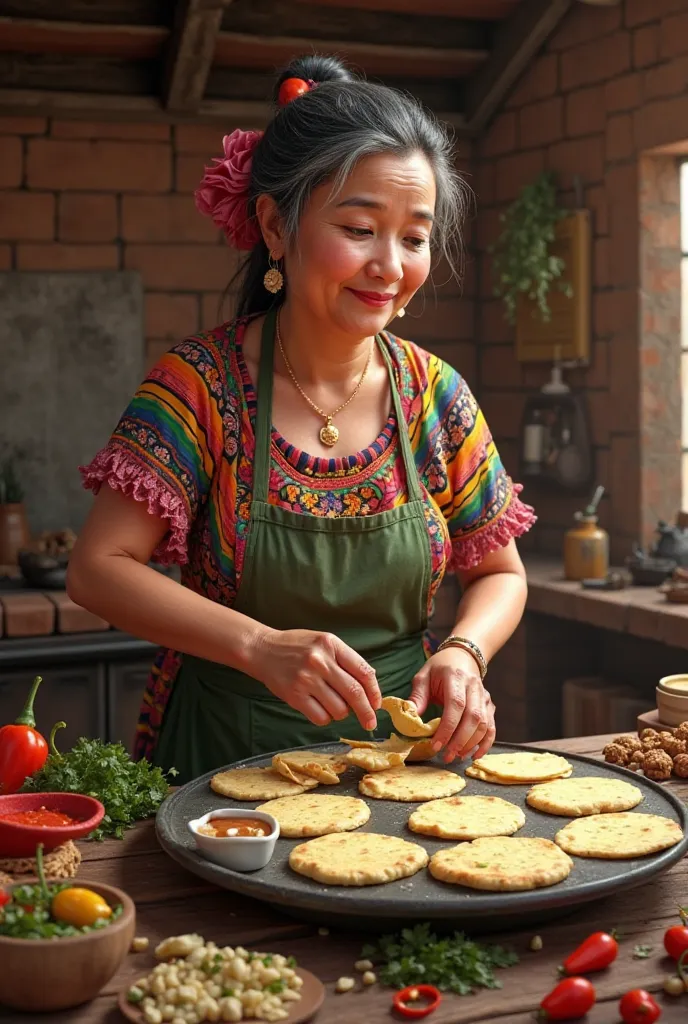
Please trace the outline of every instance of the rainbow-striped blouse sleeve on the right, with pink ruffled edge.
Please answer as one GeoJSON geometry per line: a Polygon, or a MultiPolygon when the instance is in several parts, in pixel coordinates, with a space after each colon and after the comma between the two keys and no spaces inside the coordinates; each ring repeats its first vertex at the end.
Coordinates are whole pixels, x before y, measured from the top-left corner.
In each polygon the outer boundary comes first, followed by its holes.
{"type": "Polygon", "coordinates": [[[507,474],[463,377],[435,355],[429,355],[426,373],[422,415],[435,425],[427,431],[433,439],[433,497],[448,525],[451,567],[473,568],[488,552],[529,529],[535,516],[520,501],[521,486],[507,474]]]}

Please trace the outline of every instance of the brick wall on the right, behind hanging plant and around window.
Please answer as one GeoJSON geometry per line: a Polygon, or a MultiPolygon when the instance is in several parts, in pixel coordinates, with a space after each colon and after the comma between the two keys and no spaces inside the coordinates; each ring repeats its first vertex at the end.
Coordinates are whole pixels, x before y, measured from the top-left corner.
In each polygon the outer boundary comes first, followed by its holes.
{"type": "MultiPolygon", "coordinates": [[[[687,87],[688,0],[574,4],[475,150],[479,395],[510,469],[525,396],[548,371],[516,362],[486,250],[500,212],[544,169],[569,207],[577,177],[593,212],[592,357],[567,378],[587,392],[616,560],[680,503],[676,152],[687,87]]],[[[559,553],[580,499],[534,484],[526,497],[541,521],[524,547],[559,553]]]]}

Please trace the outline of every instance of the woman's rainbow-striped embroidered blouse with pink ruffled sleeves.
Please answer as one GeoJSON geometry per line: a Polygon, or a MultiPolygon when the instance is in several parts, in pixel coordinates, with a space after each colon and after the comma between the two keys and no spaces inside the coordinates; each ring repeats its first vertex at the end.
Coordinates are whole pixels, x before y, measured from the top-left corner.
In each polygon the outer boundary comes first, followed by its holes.
{"type": "MultiPolygon", "coordinates": [[[[82,467],[169,522],[154,558],[231,606],[241,581],[253,476],[256,395],[242,352],[245,321],[188,338],[150,370],[110,442],[82,467]]],[[[466,569],[535,521],[500,460],[475,398],[446,362],[386,334],[426,499],[430,602],[447,568],[466,569]]],[[[304,515],[373,515],[406,501],[392,413],[363,452],[317,458],[272,430],[269,501],[304,515]]],[[[431,608],[429,611],[431,612],[431,608]]],[[[179,666],[161,651],[146,687],[136,754],[155,749],[179,666]]]]}

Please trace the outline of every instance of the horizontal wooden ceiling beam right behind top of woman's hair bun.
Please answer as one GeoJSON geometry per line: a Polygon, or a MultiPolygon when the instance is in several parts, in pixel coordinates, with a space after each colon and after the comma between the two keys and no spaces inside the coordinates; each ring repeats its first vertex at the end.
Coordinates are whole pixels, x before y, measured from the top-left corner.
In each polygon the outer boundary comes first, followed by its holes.
{"type": "Polygon", "coordinates": [[[484,63],[488,53],[478,49],[441,49],[434,46],[385,46],[378,43],[330,42],[293,36],[249,36],[222,32],[215,51],[216,67],[273,68],[302,53],[335,53],[371,75],[408,78],[462,78],[484,63]]]}

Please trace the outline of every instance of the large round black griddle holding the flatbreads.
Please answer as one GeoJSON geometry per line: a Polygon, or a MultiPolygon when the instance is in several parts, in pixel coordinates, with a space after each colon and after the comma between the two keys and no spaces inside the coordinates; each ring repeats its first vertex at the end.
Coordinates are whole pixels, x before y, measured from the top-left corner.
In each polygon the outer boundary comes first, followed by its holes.
{"type": "MultiPolygon", "coordinates": [[[[344,753],[340,743],[321,743],[312,748],[324,754],[344,753]]],[[[532,751],[542,754],[542,748],[497,743],[491,753],[532,751]]],[[[553,752],[561,754],[561,752],[553,752]]],[[[625,779],[643,793],[643,801],[635,808],[637,814],[660,814],[677,821],[684,831],[683,840],[661,853],[631,860],[598,860],[573,857],[574,866],[569,877],[558,885],[529,892],[492,893],[448,885],[432,878],[423,868],[407,879],[384,885],[348,887],[326,886],[312,879],[297,874],[289,867],[293,847],[305,840],[278,839],[270,863],[259,871],[242,873],[206,860],[197,853],[193,837],[187,822],[207,811],[219,807],[256,807],[260,801],[249,803],[220,797],[210,788],[210,779],[216,772],[182,786],[165,801],[158,812],[156,827],[163,849],[193,874],[213,882],[223,889],[253,896],[271,903],[286,913],[319,925],[340,928],[365,928],[380,931],[394,923],[430,921],[438,927],[451,926],[472,931],[489,931],[514,927],[527,927],[535,922],[561,916],[583,903],[600,899],[642,885],[665,871],[688,850],[688,812],[686,807],[669,790],[656,782],[636,775],[625,768],[606,764],[577,754],[561,755],[573,767],[574,776],[599,775],[625,779]]],[[[271,755],[250,758],[227,768],[269,766],[271,755]]],[[[447,767],[440,759],[423,764],[447,767]]],[[[412,767],[410,765],[410,767],[412,767]]],[[[449,770],[463,775],[465,765],[449,766],[449,770]]],[[[371,808],[369,821],[357,831],[384,833],[418,843],[430,856],[443,847],[456,845],[456,840],[434,839],[412,833],[406,825],[411,812],[418,803],[372,800],[358,793],[358,780],[364,772],[350,768],[339,785],[322,785],[318,792],[341,796],[355,796],[365,800],[371,808]]],[[[545,814],[528,807],[526,785],[500,785],[467,778],[461,796],[496,796],[522,807],[525,825],[516,833],[519,837],[540,836],[553,840],[555,834],[569,821],[567,817],[545,814]]]]}

